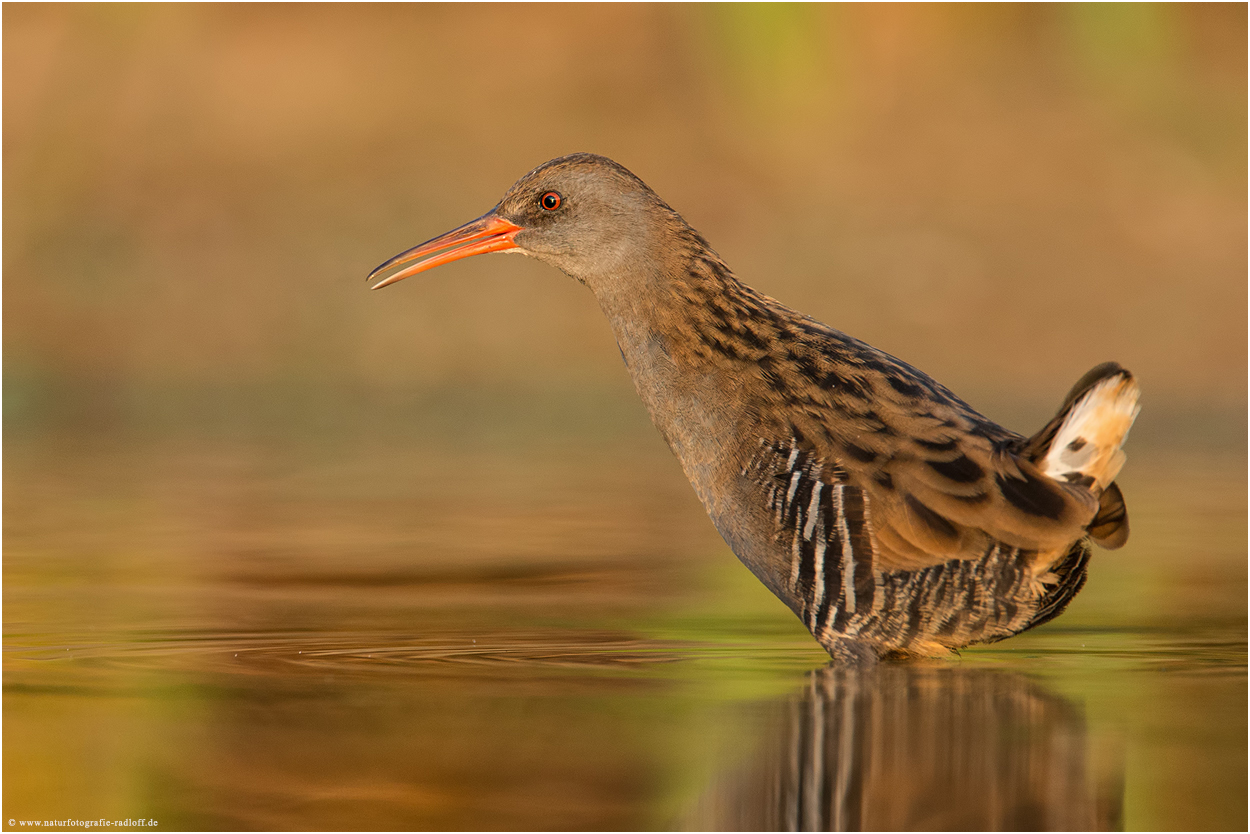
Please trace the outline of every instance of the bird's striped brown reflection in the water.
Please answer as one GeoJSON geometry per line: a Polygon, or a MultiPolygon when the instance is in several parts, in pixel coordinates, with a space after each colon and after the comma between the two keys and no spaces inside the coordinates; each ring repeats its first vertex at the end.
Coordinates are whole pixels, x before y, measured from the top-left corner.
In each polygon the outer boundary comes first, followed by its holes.
{"type": "Polygon", "coordinates": [[[1122,765],[1098,773],[1080,709],[1021,675],[830,666],[776,708],[760,753],[716,779],[690,828],[1122,826],[1122,765]]]}

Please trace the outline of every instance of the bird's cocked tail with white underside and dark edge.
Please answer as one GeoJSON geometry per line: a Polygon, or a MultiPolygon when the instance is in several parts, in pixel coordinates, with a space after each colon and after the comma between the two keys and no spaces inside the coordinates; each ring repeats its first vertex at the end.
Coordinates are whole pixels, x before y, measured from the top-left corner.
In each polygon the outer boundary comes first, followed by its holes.
{"type": "Polygon", "coordinates": [[[1048,476],[1100,496],[1089,531],[1105,548],[1119,548],[1129,538],[1129,514],[1115,476],[1124,466],[1120,446],[1140,410],[1140,394],[1132,374],[1104,363],[1072,386],[1059,414],[1024,448],[1024,456],[1048,476]]]}

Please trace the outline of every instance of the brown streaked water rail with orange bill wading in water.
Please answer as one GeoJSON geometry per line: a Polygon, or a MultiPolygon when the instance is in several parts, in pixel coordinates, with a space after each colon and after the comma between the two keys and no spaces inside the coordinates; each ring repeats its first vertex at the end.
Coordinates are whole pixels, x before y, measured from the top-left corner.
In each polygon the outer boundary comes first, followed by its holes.
{"type": "Polygon", "coordinates": [[[488,253],[535,258],[594,294],[716,530],[834,663],[949,656],[1046,623],[1085,584],[1090,543],[1128,540],[1115,478],[1140,389],[1116,363],[1085,374],[1036,434],[1005,429],[741,283],[596,154],[538,166],[369,280],[488,253]]]}

